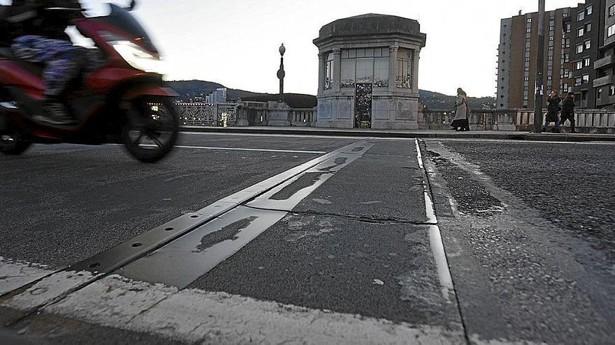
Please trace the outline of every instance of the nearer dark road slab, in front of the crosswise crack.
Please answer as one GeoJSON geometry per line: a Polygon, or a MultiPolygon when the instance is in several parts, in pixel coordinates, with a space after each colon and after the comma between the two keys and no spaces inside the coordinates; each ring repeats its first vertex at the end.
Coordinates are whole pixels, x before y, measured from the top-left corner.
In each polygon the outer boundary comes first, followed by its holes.
{"type": "Polygon", "coordinates": [[[391,321],[457,323],[426,227],[289,215],[191,287],[391,321]]]}

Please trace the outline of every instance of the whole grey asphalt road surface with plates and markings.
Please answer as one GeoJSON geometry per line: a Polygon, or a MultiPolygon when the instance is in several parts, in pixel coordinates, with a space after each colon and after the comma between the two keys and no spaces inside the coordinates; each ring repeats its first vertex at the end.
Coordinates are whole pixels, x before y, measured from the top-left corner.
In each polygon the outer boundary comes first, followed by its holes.
{"type": "Polygon", "coordinates": [[[7,344],[607,344],[614,145],[182,135],[0,157],[7,344]]]}

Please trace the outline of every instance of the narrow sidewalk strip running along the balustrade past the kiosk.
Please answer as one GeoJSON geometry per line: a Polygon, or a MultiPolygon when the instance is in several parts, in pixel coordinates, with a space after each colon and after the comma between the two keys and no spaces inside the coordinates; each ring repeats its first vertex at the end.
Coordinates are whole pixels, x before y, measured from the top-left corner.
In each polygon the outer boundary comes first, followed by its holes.
{"type": "Polygon", "coordinates": [[[336,137],[379,137],[379,138],[453,138],[453,139],[512,139],[528,141],[615,141],[615,135],[602,134],[535,134],[519,131],[471,130],[364,130],[313,127],[201,127],[182,126],[183,132],[272,134],[272,135],[323,135],[336,137]]]}

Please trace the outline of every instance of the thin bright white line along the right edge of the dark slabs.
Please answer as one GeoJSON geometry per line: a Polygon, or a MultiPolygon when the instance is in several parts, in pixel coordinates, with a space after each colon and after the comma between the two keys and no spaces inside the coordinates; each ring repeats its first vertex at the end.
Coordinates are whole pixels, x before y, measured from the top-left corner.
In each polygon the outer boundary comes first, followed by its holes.
{"type": "MultiPolygon", "coordinates": [[[[415,139],[415,142],[417,144],[417,160],[419,161],[419,167],[424,171],[425,167],[423,164],[423,157],[421,155],[421,147],[419,146],[419,139],[415,139]]],[[[444,296],[447,301],[450,301],[449,296],[451,293],[455,294],[453,278],[451,277],[451,271],[449,270],[447,254],[444,251],[444,243],[442,243],[440,227],[437,226],[437,217],[433,208],[433,202],[431,201],[427,181],[423,181],[423,190],[425,196],[425,212],[428,221],[433,223],[433,225],[429,225],[429,243],[431,245],[431,252],[433,252],[437,275],[440,279],[440,285],[442,286],[442,296],[444,296]]]]}

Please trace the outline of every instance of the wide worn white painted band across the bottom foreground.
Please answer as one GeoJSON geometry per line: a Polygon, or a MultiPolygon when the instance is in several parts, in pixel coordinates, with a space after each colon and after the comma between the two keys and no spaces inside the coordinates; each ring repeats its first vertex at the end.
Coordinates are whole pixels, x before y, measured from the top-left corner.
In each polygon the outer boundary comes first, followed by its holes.
{"type": "Polygon", "coordinates": [[[44,311],[190,344],[465,344],[461,325],[393,323],[228,293],[178,291],[120,275],[94,282],[44,311]]]}

